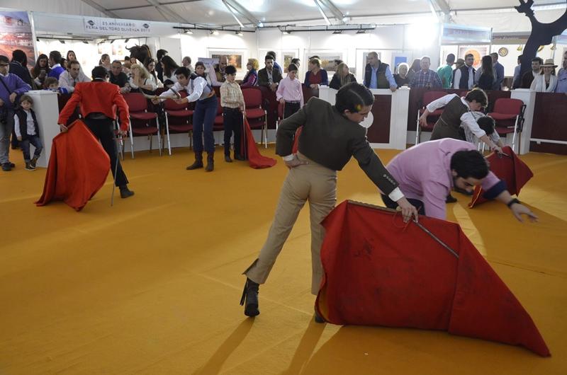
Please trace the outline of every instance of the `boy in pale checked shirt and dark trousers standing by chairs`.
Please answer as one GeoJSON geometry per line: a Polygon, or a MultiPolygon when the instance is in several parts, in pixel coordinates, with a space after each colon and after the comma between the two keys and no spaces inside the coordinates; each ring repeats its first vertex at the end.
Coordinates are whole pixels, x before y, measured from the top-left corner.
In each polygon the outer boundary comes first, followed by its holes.
{"type": "Polygon", "coordinates": [[[220,86],[220,105],[223,107],[223,125],[225,127],[225,161],[232,163],[230,158],[230,137],[235,134],[235,159],[245,160],[240,154],[240,139],[242,137],[242,115],[245,115],[244,96],[240,85],[235,82],[236,68],[228,65],[225,68],[226,81],[220,86]]]}

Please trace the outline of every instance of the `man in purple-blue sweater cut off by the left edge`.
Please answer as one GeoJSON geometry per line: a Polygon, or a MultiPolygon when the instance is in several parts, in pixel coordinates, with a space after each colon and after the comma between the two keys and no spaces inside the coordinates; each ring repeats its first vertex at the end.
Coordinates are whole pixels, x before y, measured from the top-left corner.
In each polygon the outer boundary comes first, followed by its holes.
{"type": "Polygon", "coordinates": [[[11,171],[16,165],[10,162],[10,135],[13,131],[13,115],[16,98],[31,90],[28,83],[11,74],[10,60],[0,55],[0,163],[2,171],[11,171]]]}

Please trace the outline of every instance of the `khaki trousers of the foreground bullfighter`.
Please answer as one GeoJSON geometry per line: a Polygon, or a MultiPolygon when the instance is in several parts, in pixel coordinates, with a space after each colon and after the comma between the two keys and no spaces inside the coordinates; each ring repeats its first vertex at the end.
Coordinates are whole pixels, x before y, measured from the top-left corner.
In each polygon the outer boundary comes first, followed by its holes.
{"type": "Polygon", "coordinates": [[[325,229],[320,222],[335,208],[337,202],[337,171],[320,166],[305,156],[298,154],[308,164],[291,168],[283,182],[274,222],[268,233],[266,243],[260,250],[257,260],[244,272],[253,282],[264,284],[274,266],[283,243],[286,242],[298,214],[309,201],[311,221],[311,293],[318,294],[322,277],[321,244],[325,229]]]}

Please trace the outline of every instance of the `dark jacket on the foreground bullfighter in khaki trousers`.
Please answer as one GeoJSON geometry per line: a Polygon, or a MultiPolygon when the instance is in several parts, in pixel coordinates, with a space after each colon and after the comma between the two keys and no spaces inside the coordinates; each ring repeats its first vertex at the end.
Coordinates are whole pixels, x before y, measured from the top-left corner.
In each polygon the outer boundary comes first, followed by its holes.
{"type": "Polygon", "coordinates": [[[303,126],[299,152],[333,171],[340,171],[354,156],[372,182],[388,195],[398,187],[366,139],[366,128],[352,122],[325,100],[310,98],[298,112],[283,120],[276,134],[276,154],[291,155],[293,138],[303,126]]]}

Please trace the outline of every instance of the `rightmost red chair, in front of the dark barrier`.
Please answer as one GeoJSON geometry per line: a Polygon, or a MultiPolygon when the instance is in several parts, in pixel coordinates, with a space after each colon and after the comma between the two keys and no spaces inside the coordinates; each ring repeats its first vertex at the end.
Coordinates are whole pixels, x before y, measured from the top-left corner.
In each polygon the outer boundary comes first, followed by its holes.
{"type": "Polygon", "coordinates": [[[488,113],[496,123],[495,132],[500,137],[506,137],[507,134],[514,133],[512,136],[512,151],[516,144],[516,134],[518,135],[518,154],[520,154],[520,137],[522,134],[522,125],[524,124],[524,111],[526,105],[520,99],[498,98],[494,103],[494,112],[488,113]],[[514,125],[510,123],[514,121],[514,125]]]}

